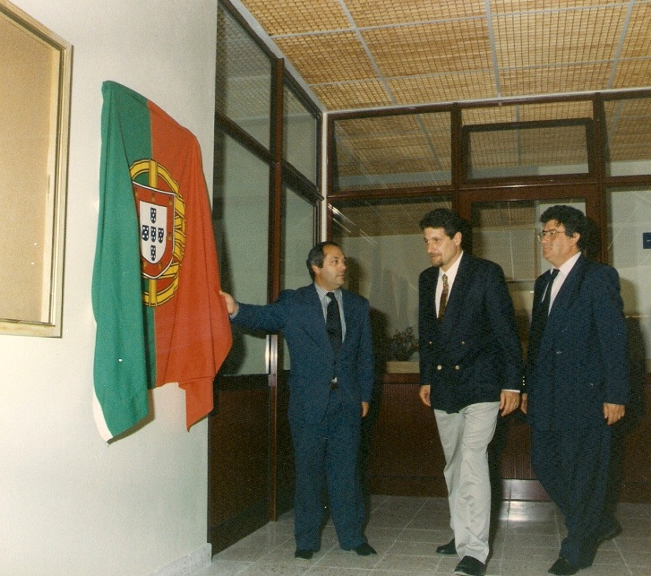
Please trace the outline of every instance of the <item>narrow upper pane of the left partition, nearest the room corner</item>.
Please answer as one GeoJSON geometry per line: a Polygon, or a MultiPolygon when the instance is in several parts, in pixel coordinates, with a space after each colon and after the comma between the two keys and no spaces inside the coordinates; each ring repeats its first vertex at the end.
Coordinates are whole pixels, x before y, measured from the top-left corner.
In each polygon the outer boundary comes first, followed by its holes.
{"type": "Polygon", "coordinates": [[[285,146],[283,158],[316,184],[317,118],[304,107],[292,90],[285,87],[283,118],[285,146]]]}

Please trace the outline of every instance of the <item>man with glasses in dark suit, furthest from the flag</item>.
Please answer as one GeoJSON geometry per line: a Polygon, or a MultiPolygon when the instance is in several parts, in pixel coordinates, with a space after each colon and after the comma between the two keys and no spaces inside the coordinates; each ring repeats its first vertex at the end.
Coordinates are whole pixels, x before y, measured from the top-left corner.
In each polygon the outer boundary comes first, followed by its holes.
{"type": "Polygon", "coordinates": [[[568,529],[549,572],[574,574],[621,532],[605,497],[610,426],[629,396],[627,331],[617,271],[581,254],[584,214],[552,206],[540,221],[553,269],[535,281],[522,410],[535,474],[568,529]]]}

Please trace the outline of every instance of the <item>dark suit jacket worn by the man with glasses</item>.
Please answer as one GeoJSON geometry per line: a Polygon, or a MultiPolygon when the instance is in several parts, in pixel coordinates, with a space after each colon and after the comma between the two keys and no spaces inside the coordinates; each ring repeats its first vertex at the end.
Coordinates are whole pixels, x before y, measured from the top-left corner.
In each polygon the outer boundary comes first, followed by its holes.
{"type": "Polygon", "coordinates": [[[626,404],[629,396],[619,276],[580,256],[541,331],[548,280],[549,272],[535,280],[525,378],[529,422],[549,430],[603,425],[604,402],[626,404]]]}

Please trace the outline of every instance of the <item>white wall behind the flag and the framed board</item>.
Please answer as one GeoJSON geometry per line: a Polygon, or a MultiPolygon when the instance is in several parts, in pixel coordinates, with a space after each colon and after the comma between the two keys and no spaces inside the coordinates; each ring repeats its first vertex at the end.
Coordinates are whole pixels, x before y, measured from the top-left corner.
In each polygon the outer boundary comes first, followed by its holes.
{"type": "Polygon", "coordinates": [[[14,4],[73,44],[73,106],[63,337],[0,336],[0,573],[146,574],[205,550],[207,424],[185,431],[176,384],[116,443],[93,422],[100,88],[121,82],[193,131],[211,189],[217,0],[14,4]]]}

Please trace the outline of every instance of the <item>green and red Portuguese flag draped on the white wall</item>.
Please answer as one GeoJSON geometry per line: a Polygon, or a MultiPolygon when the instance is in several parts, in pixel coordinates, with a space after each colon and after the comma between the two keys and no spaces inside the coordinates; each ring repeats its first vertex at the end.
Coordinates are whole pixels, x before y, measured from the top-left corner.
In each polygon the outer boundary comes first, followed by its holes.
{"type": "Polygon", "coordinates": [[[133,90],[102,94],[93,411],[109,440],[165,383],[184,389],[188,428],[206,416],[231,332],[199,143],[133,90]]]}

